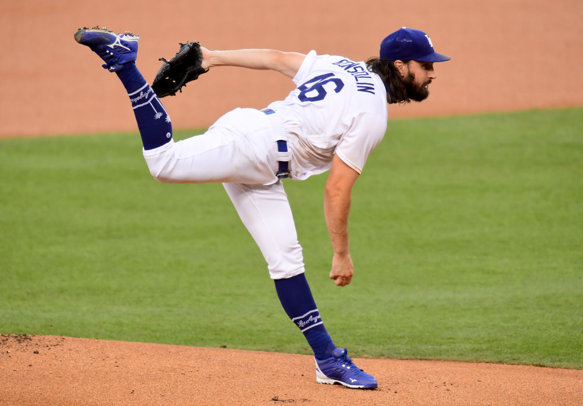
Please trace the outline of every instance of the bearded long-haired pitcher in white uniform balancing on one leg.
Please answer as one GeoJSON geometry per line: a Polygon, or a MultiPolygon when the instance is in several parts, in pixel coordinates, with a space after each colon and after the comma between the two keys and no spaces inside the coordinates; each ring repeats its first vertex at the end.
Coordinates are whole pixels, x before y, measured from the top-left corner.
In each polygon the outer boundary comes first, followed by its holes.
{"type": "Polygon", "coordinates": [[[150,174],[164,183],[221,182],[243,224],[261,249],[283,309],[314,351],[318,383],[372,389],[377,380],[337,348],[304,276],[302,249],[283,178],[301,181],[330,171],[324,216],[334,250],[330,278],[346,286],[353,276],[348,239],[352,186],[368,154],[387,130],[387,103],[422,101],[436,79],[433,63],[449,58],[429,36],[402,29],[382,40],[380,56],[366,62],[274,50],[209,51],[180,44],[152,86],[136,68],[139,36],[98,26],[75,33],[115,72],[134,109],[150,174]],[[170,115],[160,98],[216,66],[271,69],[297,85],[263,110],[237,108],[203,135],[174,142],[170,115]]]}

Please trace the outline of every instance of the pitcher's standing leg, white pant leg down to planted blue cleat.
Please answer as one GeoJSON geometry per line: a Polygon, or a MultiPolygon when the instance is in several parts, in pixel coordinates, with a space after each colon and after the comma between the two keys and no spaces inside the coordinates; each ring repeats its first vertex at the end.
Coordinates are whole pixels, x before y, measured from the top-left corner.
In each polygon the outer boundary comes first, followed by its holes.
{"type": "Polygon", "coordinates": [[[283,183],[223,185],[268,263],[283,309],[314,351],[317,382],[359,389],[377,387],[374,376],[354,365],[346,348],[336,348],[324,327],[304,275],[301,246],[283,183]]]}

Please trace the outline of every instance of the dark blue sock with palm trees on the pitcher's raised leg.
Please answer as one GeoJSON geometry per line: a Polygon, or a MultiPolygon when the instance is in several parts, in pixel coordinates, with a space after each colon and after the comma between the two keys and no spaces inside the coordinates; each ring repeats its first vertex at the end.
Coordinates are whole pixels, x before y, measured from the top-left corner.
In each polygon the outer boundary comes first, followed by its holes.
{"type": "Polygon", "coordinates": [[[134,108],[138,129],[145,150],[153,150],[170,142],[172,123],[156,93],[152,90],[134,62],[125,63],[117,72],[134,108]]]}

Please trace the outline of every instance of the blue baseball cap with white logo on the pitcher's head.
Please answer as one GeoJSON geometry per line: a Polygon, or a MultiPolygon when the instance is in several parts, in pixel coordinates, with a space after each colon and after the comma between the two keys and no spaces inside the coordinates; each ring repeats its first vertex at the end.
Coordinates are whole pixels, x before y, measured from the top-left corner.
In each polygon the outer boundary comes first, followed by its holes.
{"type": "Polygon", "coordinates": [[[433,50],[426,33],[403,27],[382,40],[380,57],[384,61],[444,62],[449,57],[433,50]]]}

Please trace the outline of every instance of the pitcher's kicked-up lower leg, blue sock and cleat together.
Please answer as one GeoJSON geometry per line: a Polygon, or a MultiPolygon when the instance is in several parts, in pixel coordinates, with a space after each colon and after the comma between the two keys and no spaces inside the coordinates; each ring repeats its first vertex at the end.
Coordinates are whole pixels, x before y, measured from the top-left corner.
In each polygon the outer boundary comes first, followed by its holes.
{"type": "Polygon", "coordinates": [[[172,139],[172,123],[152,87],[136,68],[139,36],[115,34],[107,29],[82,28],[75,33],[75,40],[87,45],[104,62],[104,69],[115,72],[124,84],[132,102],[138,129],[145,150],[163,146],[172,139]]]}

